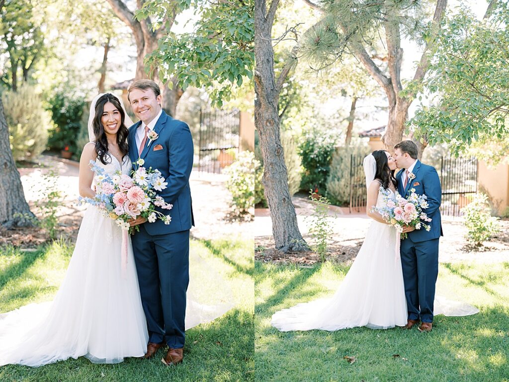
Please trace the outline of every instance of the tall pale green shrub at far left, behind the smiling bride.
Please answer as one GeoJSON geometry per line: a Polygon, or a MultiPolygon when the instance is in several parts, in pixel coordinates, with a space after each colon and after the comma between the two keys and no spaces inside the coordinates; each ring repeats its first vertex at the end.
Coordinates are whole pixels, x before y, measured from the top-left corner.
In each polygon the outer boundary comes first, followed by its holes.
{"type": "Polygon", "coordinates": [[[4,92],[2,101],[14,159],[38,156],[46,149],[51,124],[41,97],[32,86],[22,85],[16,92],[4,92]]]}

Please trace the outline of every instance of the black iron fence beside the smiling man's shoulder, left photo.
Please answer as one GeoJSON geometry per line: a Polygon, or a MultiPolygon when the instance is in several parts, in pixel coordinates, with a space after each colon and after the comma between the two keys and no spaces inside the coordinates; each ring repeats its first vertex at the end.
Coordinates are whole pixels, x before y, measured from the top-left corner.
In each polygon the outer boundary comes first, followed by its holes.
{"type": "Polygon", "coordinates": [[[232,164],[240,143],[238,110],[200,111],[199,171],[221,173],[232,164]]]}

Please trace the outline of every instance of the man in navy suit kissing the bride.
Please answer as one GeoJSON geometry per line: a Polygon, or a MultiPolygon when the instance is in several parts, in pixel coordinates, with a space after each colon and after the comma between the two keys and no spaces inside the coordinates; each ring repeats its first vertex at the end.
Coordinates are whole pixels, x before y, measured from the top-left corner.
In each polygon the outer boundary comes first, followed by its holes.
{"type": "Polygon", "coordinates": [[[443,236],[439,210],[442,188],[435,168],[423,165],[417,159],[417,151],[417,145],[412,141],[394,146],[394,160],[402,169],[396,175],[399,194],[406,197],[411,188],[415,188],[417,195],[425,194],[429,207],[424,212],[432,219],[429,232],[408,226],[403,230],[408,233],[408,237],[401,241],[401,266],[408,309],[404,328],[411,329],[420,320],[422,323],[418,329],[431,332],[438,276],[438,240],[443,236]]]}

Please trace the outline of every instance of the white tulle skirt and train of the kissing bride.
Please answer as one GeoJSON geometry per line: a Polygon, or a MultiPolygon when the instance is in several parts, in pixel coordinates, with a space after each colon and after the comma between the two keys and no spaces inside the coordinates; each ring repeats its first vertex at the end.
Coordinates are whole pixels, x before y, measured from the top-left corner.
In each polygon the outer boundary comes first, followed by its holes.
{"type": "Polygon", "coordinates": [[[372,222],[336,293],[330,298],[278,311],[272,316],[271,324],[283,332],[404,326],[407,307],[396,238],[394,228],[372,222]]]}

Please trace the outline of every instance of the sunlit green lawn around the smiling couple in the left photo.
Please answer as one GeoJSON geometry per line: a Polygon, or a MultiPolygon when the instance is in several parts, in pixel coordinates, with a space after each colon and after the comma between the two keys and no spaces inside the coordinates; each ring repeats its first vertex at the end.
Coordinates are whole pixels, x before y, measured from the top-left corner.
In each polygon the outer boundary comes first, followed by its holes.
{"type": "MultiPolygon", "coordinates": [[[[186,331],[184,363],[165,367],[161,363],[163,350],[152,360],[130,358],[116,365],[92,364],[81,357],[39,368],[0,367],[0,381],[254,380],[253,248],[252,240],[240,238],[191,240],[190,250],[206,259],[207,266],[213,267],[231,288],[235,307],[211,323],[186,331]]],[[[35,252],[0,248],[0,312],[51,300],[63,280],[72,250],[63,242],[53,242],[35,252]]]]}

